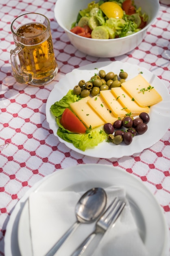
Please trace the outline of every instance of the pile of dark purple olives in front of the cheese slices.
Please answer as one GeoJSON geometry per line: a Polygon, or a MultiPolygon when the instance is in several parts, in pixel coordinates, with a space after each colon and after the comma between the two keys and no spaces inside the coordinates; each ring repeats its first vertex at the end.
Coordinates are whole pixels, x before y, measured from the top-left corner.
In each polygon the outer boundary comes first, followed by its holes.
{"type": "Polygon", "coordinates": [[[126,116],[124,119],[116,120],[113,125],[110,123],[104,124],[103,129],[108,134],[108,141],[117,145],[124,141],[125,144],[129,145],[135,135],[144,134],[148,130],[147,124],[149,121],[149,115],[142,112],[135,119],[126,116]]]}

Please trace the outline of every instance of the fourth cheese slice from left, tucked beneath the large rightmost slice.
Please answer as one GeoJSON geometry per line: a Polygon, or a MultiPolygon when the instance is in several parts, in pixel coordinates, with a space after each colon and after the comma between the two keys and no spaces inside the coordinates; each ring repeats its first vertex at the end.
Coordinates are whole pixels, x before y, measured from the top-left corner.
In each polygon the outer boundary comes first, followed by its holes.
{"type": "Polygon", "coordinates": [[[111,92],[115,95],[117,100],[120,101],[122,106],[126,108],[126,111],[131,113],[131,115],[139,115],[141,112],[149,113],[150,109],[148,107],[140,107],[135,102],[135,99],[130,97],[122,87],[111,88],[111,92]]]}

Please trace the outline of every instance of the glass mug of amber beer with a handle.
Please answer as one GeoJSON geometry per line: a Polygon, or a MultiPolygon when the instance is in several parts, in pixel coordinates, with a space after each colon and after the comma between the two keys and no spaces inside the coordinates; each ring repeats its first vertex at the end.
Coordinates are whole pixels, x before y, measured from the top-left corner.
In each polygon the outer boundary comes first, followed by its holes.
{"type": "Polygon", "coordinates": [[[39,13],[27,13],[11,24],[15,49],[11,50],[13,76],[18,83],[44,85],[58,72],[50,21],[39,13]]]}

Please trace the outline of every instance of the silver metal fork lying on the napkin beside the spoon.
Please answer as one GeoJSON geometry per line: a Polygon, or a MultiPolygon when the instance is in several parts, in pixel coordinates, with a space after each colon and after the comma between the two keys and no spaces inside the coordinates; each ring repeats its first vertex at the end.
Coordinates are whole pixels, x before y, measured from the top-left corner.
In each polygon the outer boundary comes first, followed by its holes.
{"type": "Polygon", "coordinates": [[[118,217],[120,216],[120,213],[124,209],[125,202],[120,201],[118,198],[115,198],[105,213],[102,215],[102,217],[96,222],[96,229],[93,231],[82,243],[81,245],[76,249],[76,251],[71,256],[81,256],[84,252],[87,246],[91,243],[93,238],[98,233],[104,234],[107,230],[109,230],[113,224],[116,222],[118,217]]]}

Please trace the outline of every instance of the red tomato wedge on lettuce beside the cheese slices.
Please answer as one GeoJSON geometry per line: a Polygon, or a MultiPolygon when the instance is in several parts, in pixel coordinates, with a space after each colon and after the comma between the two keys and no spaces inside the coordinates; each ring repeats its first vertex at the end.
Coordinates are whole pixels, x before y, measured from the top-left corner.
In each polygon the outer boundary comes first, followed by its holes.
{"type": "Polygon", "coordinates": [[[80,119],[78,119],[78,117],[76,117],[76,115],[74,115],[74,113],[69,108],[65,108],[61,116],[60,123],[70,132],[85,133],[87,130],[80,119]]]}

